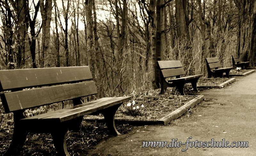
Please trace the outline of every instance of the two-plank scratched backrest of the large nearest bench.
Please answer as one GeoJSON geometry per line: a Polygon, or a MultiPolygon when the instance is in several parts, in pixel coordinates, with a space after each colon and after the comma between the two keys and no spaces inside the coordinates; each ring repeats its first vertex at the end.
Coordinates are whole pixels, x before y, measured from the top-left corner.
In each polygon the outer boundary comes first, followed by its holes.
{"type": "Polygon", "coordinates": [[[88,66],[2,70],[0,91],[11,92],[0,96],[9,113],[96,94],[95,83],[88,80],[88,66]]]}

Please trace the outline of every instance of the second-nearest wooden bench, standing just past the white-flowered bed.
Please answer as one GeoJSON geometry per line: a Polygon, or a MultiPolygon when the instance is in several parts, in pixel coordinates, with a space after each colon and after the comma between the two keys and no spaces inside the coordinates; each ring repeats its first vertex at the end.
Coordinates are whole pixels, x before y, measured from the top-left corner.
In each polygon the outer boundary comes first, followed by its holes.
{"type": "Polygon", "coordinates": [[[184,69],[182,68],[182,64],[180,61],[157,61],[158,67],[160,69],[160,79],[161,79],[161,91],[160,94],[165,93],[167,87],[176,87],[179,90],[181,95],[185,95],[184,93],[184,85],[186,83],[191,83],[193,89],[198,92],[196,88],[196,83],[198,79],[203,76],[192,75],[186,77],[180,77],[185,74],[184,69]],[[165,78],[176,77],[174,79],[166,81],[165,78]]]}

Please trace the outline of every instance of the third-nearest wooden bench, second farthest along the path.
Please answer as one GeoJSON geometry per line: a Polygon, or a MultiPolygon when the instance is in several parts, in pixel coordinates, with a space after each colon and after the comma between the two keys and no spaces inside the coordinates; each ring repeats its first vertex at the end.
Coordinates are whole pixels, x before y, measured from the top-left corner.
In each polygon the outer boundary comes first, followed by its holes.
{"type": "Polygon", "coordinates": [[[223,73],[226,73],[226,77],[229,78],[229,71],[232,69],[232,67],[220,68],[221,64],[217,57],[206,58],[205,61],[208,71],[208,78],[211,78],[212,76],[214,78],[222,78],[223,73]]]}

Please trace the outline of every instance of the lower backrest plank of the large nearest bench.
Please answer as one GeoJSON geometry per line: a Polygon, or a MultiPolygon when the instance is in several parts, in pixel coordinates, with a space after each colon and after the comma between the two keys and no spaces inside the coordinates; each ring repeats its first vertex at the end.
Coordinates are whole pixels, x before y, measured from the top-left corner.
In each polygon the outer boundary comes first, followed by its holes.
{"type": "Polygon", "coordinates": [[[34,108],[96,94],[93,81],[23,90],[1,94],[5,112],[34,108]]]}

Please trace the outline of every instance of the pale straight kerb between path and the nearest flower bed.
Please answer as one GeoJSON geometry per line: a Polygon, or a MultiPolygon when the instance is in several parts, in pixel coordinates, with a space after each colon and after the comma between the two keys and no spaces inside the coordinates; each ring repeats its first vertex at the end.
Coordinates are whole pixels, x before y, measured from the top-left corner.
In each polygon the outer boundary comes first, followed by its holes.
{"type": "Polygon", "coordinates": [[[172,113],[170,113],[170,114],[164,116],[163,118],[161,118],[160,120],[158,120],[159,123],[161,123],[163,125],[167,125],[168,123],[172,122],[172,120],[177,119],[178,117],[183,115],[189,108],[192,108],[196,104],[202,102],[203,97],[204,97],[204,95],[199,95],[196,98],[194,98],[193,100],[190,100],[185,105],[181,106],[180,108],[174,110],[172,113]]]}

